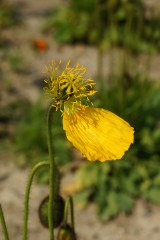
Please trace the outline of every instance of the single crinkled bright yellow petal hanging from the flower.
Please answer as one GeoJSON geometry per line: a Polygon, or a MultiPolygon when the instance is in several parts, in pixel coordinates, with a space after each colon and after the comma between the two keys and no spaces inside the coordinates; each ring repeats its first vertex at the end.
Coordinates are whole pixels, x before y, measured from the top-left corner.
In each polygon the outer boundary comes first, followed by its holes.
{"type": "Polygon", "coordinates": [[[126,121],[102,108],[64,112],[63,128],[68,140],[90,161],[122,158],[134,138],[126,121]]]}

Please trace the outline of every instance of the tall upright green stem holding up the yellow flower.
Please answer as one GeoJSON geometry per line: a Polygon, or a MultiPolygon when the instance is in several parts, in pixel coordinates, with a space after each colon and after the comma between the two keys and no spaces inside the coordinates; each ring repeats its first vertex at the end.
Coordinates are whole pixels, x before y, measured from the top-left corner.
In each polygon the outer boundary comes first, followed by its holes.
{"type": "Polygon", "coordinates": [[[49,204],[48,204],[48,222],[49,222],[49,231],[50,231],[50,240],[54,240],[54,231],[53,231],[53,199],[56,192],[55,185],[56,181],[56,165],[54,161],[54,152],[53,152],[53,139],[52,139],[52,105],[49,107],[47,123],[48,123],[48,151],[50,158],[50,171],[49,171],[49,204]]]}

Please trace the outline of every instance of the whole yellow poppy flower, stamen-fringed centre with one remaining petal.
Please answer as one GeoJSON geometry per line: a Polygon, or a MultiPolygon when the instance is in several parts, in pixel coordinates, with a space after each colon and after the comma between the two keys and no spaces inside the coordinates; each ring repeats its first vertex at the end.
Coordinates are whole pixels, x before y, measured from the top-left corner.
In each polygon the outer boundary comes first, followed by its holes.
{"type": "MultiPolygon", "coordinates": [[[[55,63],[54,63],[55,64],[55,63]]],[[[51,68],[50,68],[51,69],[51,68]]],[[[53,65],[52,65],[53,76],[53,65]]],[[[90,161],[122,158],[133,143],[133,128],[122,118],[102,108],[83,105],[95,93],[93,80],[84,78],[84,68],[69,64],[60,75],[46,80],[54,106],[63,111],[63,128],[72,144],[90,161]],[[83,72],[83,73],[82,73],[83,72]],[[59,97],[57,97],[59,96],[59,97]]]]}

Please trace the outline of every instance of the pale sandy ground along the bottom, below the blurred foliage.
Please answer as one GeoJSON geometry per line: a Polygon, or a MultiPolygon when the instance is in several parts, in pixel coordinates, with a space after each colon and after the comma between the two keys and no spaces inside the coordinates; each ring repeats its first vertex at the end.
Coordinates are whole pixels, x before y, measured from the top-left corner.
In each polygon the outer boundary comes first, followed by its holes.
{"type": "MultiPolygon", "coordinates": [[[[0,202],[2,203],[11,239],[21,240],[23,202],[29,169],[18,168],[12,155],[0,155],[0,202]]],[[[68,178],[68,176],[67,176],[68,178]]],[[[73,183],[73,178],[69,177],[73,183]]],[[[64,190],[62,182],[62,192],[64,190]]],[[[69,182],[69,181],[68,181],[69,182]]],[[[39,202],[47,195],[48,187],[34,184],[30,198],[29,239],[48,239],[48,230],[38,219],[39,202]]],[[[133,214],[119,215],[116,219],[100,223],[94,205],[86,209],[75,206],[76,232],[78,240],[159,240],[160,207],[139,200],[133,214]]],[[[1,240],[2,232],[0,228],[1,240]]]]}

